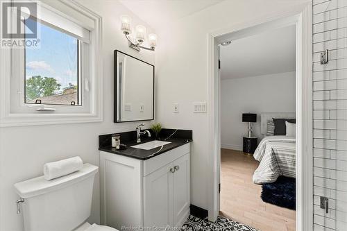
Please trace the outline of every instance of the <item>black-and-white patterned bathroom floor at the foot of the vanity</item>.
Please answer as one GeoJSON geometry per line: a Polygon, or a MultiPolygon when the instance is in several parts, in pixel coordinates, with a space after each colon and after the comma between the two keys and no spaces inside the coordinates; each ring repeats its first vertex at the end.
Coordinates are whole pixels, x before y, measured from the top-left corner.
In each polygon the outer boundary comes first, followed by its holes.
{"type": "Polygon", "coordinates": [[[260,231],[254,228],[227,219],[224,216],[218,216],[217,221],[210,222],[207,220],[198,219],[195,216],[189,215],[187,221],[183,224],[182,230],[189,231],[260,231]]]}

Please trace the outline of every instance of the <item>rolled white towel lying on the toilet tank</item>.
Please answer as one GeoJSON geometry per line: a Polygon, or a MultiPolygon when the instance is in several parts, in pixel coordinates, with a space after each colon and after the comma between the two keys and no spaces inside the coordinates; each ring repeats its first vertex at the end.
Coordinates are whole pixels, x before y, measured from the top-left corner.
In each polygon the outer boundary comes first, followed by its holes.
{"type": "Polygon", "coordinates": [[[83,168],[83,161],[81,157],[71,157],[65,160],[56,162],[49,162],[44,164],[44,179],[52,180],[60,176],[66,176],[74,171],[83,168]]]}

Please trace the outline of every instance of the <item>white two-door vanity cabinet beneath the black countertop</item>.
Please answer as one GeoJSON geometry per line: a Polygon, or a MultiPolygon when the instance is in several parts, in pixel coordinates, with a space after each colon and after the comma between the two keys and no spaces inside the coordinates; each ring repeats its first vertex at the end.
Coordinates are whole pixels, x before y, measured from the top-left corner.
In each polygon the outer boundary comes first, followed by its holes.
{"type": "Polygon", "coordinates": [[[189,216],[190,144],[148,160],[101,151],[100,168],[102,224],[180,227],[189,216]]]}

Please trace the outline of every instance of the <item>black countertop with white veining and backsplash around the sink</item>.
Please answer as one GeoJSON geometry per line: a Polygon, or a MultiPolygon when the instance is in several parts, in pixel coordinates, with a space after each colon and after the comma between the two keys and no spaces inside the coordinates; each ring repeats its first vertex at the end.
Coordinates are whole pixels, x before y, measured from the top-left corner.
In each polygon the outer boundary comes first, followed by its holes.
{"type": "MultiPolygon", "coordinates": [[[[151,131],[151,130],[150,130],[151,131]]],[[[153,132],[152,136],[153,136],[153,132]]],[[[113,133],[115,134],[115,133],[113,133]]],[[[184,144],[190,143],[192,139],[192,130],[176,130],[164,128],[160,132],[160,138],[158,140],[171,142],[165,144],[164,146],[159,146],[157,148],[152,148],[150,150],[144,150],[139,148],[132,148],[131,146],[137,145],[136,142],[136,132],[121,132],[117,133],[121,135],[121,144],[126,144],[127,148],[125,150],[119,150],[111,147],[111,135],[100,135],[99,136],[99,150],[108,153],[113,153],[117,155],[124,155],[126,157],[132,157],[138,160],[148,160],[151,157],[155,157],[171,149],[178,148],[184,144]]],[[[155,139],[147,137],[147,135],[142,136],[142,142],[139,144],[144,144],[146,142],[151,142],[155,139]]]]}

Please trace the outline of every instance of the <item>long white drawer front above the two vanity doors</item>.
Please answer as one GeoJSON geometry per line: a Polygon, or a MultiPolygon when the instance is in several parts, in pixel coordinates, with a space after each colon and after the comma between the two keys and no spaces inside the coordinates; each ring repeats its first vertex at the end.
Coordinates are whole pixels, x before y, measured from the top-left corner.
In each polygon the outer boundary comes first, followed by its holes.
{"type": "Polygon", "coordinates": [[[174,148],[171,151],[167,151],[161,155],[153,157],[149,160],[144,161],[144,176],[149,175],[153,171],[160,169],[162,166],[173,162],[179,157],[190,152],[190,144],[185,144],[183,146],[179,146],[178,148],[174,148]]]}

